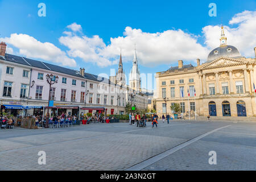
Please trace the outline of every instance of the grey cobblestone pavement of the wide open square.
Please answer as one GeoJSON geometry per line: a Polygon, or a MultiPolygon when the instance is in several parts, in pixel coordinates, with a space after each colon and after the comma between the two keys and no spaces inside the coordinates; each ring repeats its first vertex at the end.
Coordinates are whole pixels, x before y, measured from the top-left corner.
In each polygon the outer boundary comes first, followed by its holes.
{"type": "Polygon", "coordinates": [[[158,128],[150,124],[0,130],[0,170],[125,170],[183,145],[141,169],[256,169],[256,123],[159,122],[158,128]],[[46,152],[46,165],[38,164],[39,151],[46,152]],[[217,165],[208,163],[209,151],[217,152],[217,165]]]}

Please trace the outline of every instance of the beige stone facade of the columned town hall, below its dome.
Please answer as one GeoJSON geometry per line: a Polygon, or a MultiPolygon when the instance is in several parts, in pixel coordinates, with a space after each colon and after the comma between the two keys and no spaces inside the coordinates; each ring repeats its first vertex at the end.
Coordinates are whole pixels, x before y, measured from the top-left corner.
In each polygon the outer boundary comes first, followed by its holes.
{"type": "Polygon", "coordinates": [[[179,61],[179,67],[156,73],[156,112],[159,115],[171,114],[172,103],[184,102],[184,114],[196,110],[197,115],[201,116],[256,117],[253,85],[256,84],[255,63],[255,58],[225,56],[201,65],[197,60],[196,67],[181,67],[183,62],[179,61]],[[183,98],[180,87],[184,87],[183,98]],[[195,90],[196,96],[193,93],[195,90]],[[166,107],[163,98],[166,98],[166,107]],[[195,106],[191,102],[195,102],[195,106]]]}

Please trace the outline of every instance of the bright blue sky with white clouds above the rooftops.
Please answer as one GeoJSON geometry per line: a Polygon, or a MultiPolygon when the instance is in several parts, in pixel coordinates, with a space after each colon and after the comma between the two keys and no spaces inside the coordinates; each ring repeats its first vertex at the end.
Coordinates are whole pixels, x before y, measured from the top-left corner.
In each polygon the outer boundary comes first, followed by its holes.
{"type": "MultiPolygon", "coordinates": [[[[203,61],[207,59],[208,51],[219,46],[218,27],[221,22],[226,26],[228,43],[238,47],[242,55],[253,57],[253,45],[256,47],[256,43],[252,42],[248,47],[242,47],[241,41],[246,44],[248,38],[247,36],[247,39],[243,38],[245,35],[242,28],[246,27],[246,23],[253,22],[255,11],[256,1],[253,0],[1,0],[0,40],[7,42],[10,47],[7,51],[9,53],[50,61],[53,64],[63,64],[62,61],[55,62],[57,57],[56,60],[69,61],[64,65],[65,67],[72,69],[84,67],[86,72],[96,75],[100,73],[109,75],[110,68],[117,68],[120,47],[122,47],[125,72],[129,73],[134,43],[136,43],[141,72],[154,75],[156,72],[166,71],[168,67],[177,65],[177,60],[184,60],[185,64],[195,64],[196,58],[203,61]],[[38,4],[41,2],[46,4],[46,17],[38,16],[38,4]],[[212,2],[217,5],[216,17],[208,15],[210,10],[208,5],[212,2]],[[230,22],[232,19],[233,22],[230,22]],[[78,31],[68,28],[67,26],[72,23],[80,25],[81,28],[78,31]],[[70,32],[69,35],[63,34],[64,31],[70,32]],[[157,32],[159,36],[155,36],[157,32]],[[12,37],[11,34],[16,36],[12,37]],[[238,40],[236,34],[239,36],[238,40]],[[93,36],[97,37],[93,39],[93,36]],[[33,43],[28,45],[28,40],[31,38],[34,38],[33,43]],[[90,48],[90,51],[77,47],[80,40],[90,48]],[[20,42],[20,46],[14,42],[20,42]],[[26,42],[24,49],[22,49],[23,42],[26,42]],[[42,47],[34,51],[33,48],[38,42],[42,43],[39,45],[42,47]],[[52,53],[48,49],[44,51],[47,46],[45,43],[51,43],[52,51],[57,53],[52,53]],[[75,45],[69,46],[71,44],[75,45]],[[48,55],[43,56],[43,52],[48,55]],[[101,62],[97,63],[97,59],[101,62]],[[73,61],[76,64],[73,64],[73,61]]],[[[255,24],[252,27],[250,31],[255,30],[255,24]]]]}

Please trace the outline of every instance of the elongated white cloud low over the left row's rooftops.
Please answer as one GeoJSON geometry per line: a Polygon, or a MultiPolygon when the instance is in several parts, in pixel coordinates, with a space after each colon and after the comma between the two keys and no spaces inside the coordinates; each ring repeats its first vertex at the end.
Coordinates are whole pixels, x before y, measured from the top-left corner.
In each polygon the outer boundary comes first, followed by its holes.
{"type": "MultiPolygon", "coordinates": [[[[11,34],[10,38],[2,38],[1,41],[19,49],[20,55],[33,59],[43,59],[64,66],[76,67],[76,61],[69,58],[64,51],[49,42],[39,42],[26,34],[11,34]]],[[[10,49],[9,49],[10,51],[10,49]]]]}

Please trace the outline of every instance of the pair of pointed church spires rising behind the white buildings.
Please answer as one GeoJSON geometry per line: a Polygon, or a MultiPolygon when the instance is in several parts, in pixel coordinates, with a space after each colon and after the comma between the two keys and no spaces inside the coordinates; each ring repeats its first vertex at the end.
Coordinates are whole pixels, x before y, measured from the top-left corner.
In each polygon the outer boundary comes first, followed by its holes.
{"type": "MultiPolygon", "coordinates": [[[[126,86],[126,76],[125,72],[123,71],[122,53],[120,53],[118,71],[115,76],[110,76],[109,80],[115,84],[126,86]]],[[[136,90],[137,92],[141,92],[141,77],[138,68],[136,48],[134,49],[133,67],[131,68],[131,72],[129,74],[129,88],[136,90]]]]}

